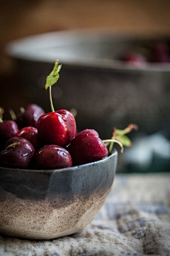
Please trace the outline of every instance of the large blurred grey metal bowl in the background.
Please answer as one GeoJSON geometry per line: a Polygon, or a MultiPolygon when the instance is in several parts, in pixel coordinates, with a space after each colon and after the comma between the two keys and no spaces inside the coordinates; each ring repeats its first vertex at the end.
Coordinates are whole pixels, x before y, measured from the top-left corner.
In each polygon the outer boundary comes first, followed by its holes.
{"type": "Polygon", "coordinates": [[[77,109],[79,130],[94,128],[106,138],[113,126],[134,122],[152,133],[169,121],[170,65],[134,68],[116,60],[158,39],[105,30],[55,32],[13,41],[6,50],[17,60],[24,93],[46,111],[45,78],[60,59],[60,81],[52,89],[55,109],[77,109]]]}

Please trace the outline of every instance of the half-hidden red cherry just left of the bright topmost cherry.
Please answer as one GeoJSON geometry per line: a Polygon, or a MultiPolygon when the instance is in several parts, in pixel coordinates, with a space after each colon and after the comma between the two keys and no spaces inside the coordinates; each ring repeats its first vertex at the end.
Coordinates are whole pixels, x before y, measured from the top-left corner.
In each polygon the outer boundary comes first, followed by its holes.
{"type": "Polygon", "coordinates": [[[30,142],[35,150],[40,149],[41,143],[38,137],[38,129],[35,127],[24,127],[15,134],[15,137],[22,137],[30,142]]]}

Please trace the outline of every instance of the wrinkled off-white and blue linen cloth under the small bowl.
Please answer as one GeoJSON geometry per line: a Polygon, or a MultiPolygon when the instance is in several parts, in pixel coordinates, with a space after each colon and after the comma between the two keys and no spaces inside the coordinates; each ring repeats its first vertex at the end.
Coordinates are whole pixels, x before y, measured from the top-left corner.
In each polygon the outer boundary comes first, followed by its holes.
{"type": "Polygon", "coordinates": [[[96,219],[49,241],[0,236],[1,256],[170,255],[170,174],[116,174],[96,219]]]}

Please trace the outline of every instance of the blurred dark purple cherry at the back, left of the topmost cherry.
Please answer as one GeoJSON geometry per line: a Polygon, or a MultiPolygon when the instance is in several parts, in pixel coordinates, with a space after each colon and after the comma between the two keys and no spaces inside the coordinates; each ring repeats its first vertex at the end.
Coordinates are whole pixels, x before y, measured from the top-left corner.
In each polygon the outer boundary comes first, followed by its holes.
{"type": "Polygon", "coordinates": [[[38,118],[45,114],[42,108],[35,104],[28,105],[26,111],[23,110],[21,114],[18,114],[16,122],[18,127],[22,129],[23,127],[37,127],[38,118]]]}

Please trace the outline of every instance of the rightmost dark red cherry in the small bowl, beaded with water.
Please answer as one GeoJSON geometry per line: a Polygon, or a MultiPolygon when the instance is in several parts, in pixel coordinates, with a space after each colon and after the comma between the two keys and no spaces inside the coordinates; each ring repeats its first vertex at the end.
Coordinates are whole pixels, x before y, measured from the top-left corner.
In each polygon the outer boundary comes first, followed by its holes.
{"type": "Polygon", "coordinates": [[[108,156],[108,149],[94,129],[79,132],[68,146],[75,164],[86,164],[108,156]]]}

